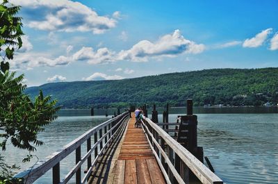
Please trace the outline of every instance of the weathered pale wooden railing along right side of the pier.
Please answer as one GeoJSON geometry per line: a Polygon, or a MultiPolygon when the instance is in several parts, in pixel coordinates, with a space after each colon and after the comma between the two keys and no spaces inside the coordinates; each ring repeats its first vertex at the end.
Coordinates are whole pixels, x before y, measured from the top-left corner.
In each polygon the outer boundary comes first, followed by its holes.
{"type": "Polygon", "coordinates": [[[223,181],[160,126],[142,116],[142,127],[167,183],[189,183],[190,171],[202,183],[223,181]]]}

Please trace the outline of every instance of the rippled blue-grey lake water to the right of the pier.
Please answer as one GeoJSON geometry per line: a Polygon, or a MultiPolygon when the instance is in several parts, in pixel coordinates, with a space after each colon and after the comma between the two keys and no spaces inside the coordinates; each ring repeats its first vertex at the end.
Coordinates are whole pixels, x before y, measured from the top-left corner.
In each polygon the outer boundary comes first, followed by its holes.
{"type": "Polygon", "coordinates": [[[224,183],[278,183],[277,114],[197,116],[198,145],[224,183]]]}

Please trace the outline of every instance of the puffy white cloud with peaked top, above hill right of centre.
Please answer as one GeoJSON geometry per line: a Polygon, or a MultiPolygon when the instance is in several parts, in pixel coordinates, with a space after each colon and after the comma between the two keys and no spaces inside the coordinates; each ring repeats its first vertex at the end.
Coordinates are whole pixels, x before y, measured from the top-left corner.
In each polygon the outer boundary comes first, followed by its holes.
{"type": "Polygon", "coordinates": [[[181,31],[164,35],[157,42],[142,40],[126,51],[120,51],[119,60],[147,61],[148,57],[177,56],[181,53],[201,53],[204,51],[204,44],[195,44],[186,40],[181,31]]]}

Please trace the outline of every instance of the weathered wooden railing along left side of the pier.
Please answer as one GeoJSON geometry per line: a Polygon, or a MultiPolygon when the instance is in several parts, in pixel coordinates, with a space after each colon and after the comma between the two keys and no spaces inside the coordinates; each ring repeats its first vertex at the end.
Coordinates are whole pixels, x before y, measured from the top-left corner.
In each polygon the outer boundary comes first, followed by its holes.
{"type": "Polygon", "coordinates": [[[14,178],[22,178],[24,183],[33,183],[35,180],[44,175],[49,169],[52,169],[52,180],[53,183],[67,183],[70,181],[74,174],[76,175],[76,183],[86,183],[88,177],[92,173],[92,168],[95,166],[97,159],[101,156],[104,150],[114,139],[115,135],[119,133],[123,128],[126,127],[127,120],[129,119],[129,112],[124,112],[121,115],[113,119],[95,126],[90,129],[76,140],[67,144],[63,149],[56,151],[48,156],[44,160],[38,162],[33,167],[26,169],[24,172],[20,172],[14,178]],[[94,137],[94,144],[92,145],[91,140],[94,137]],[[81,158],[81,145],[87,142],[87,152],[81,158]],[[99,150],[99,151],[98,151],[99,150]],[[73,151],[76,152],[76,160],[74,167],[71,171],[60,180],[60,161],[70,155],[73,151]],[[92,160],[92,153],[95,152],[95,159],[92,160]],[[87,161],[87,172],[81,179],[81,165],[87,161]]]}

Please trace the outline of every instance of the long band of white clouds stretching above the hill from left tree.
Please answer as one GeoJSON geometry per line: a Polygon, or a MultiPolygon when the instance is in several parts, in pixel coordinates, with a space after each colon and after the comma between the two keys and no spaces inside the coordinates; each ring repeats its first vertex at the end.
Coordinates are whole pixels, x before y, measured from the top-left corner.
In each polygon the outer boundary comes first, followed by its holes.
{"type": "MultiPolygon", "coordinates": [[[[148,61],[150,58],[161,60],[163,57],[175,57],[181,53],[201,53],[204,51],[204,44],[195,44],[186,40],[179,30],[172,34],[164,35],[156,42],[142,40],[133,45],[131,49],[120,52],[111,51],[106,47],[94,51],[92,47],[82,47],[79,51],[72,51],[72,45],[67,45],[67,56],[51,57],[47,53],[18,53],[12,61],[12,66],[18,69],[20,65],[33,68],[39,66],[55,67],[68,65],[71,62],[85,61],[91,65],[107,64],[119,60],[131,60],[133,62],[148,61]]],[[[126,69],[126,74],[132,74],[132,69],[126,69]]]]}

